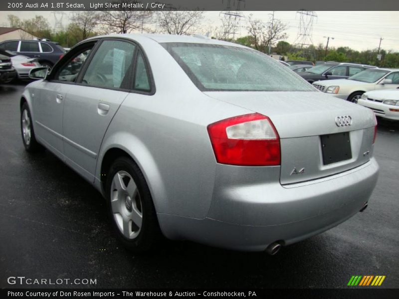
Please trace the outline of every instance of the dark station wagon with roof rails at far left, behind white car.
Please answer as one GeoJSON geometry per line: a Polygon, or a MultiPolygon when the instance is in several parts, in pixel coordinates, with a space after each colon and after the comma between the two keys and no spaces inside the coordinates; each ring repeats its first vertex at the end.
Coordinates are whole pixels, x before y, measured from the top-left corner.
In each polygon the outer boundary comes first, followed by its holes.
{"type": "Polygon", "coordinates": [[[49,68],[65,54],[64,48],[58,43],[47,40],[6,40],[0,42],[0,49],[37,58],[42,66],[49,68]]]}

